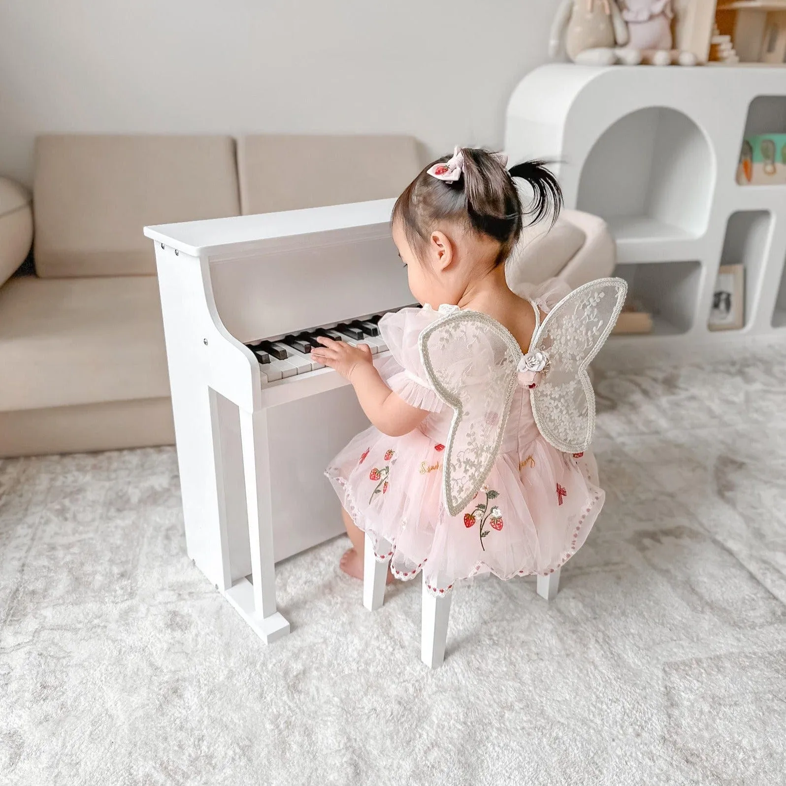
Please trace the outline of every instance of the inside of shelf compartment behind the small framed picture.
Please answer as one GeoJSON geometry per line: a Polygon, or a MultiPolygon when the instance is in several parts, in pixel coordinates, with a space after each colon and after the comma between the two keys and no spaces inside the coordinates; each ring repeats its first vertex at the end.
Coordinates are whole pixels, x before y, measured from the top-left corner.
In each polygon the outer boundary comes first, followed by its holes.
{"type": "Polygon", "coordinates": [[[744,324],[754,313],[754,298],[769,249],[773,217],[767,210],[740,210],[729,216],[721,253],[721,266],[742,265],[744,277],[744,324]]]}

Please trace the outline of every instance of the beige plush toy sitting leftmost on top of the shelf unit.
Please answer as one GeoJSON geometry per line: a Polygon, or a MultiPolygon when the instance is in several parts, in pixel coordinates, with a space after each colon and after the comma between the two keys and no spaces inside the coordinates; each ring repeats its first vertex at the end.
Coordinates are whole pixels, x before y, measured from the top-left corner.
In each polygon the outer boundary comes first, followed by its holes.
{"type": "Polygon", "coordinates": [[[638,50],[624,48],[628,30],[616,0],[562,0],[551,28],[551,57],[556,57],[560,50],[563,35],[567,57],[575,63],[637,65],[641,62],[638,50]]]}

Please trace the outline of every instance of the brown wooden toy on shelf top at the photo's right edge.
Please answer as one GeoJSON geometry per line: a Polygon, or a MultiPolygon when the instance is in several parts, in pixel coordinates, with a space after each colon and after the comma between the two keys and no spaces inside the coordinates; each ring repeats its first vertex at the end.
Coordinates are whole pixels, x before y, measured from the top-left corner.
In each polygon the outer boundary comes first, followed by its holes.
{"type": "MultiPolygon", "coordinates": [[[[732,58],[731,62],[772,65],[786,62],[786,0],[722,2],[715,20],[714,38],[729,39],[736,55],[736,60],[732,58]]],[[[711,59],[729,62],[722,49],[713,50],[711,59]]]]}

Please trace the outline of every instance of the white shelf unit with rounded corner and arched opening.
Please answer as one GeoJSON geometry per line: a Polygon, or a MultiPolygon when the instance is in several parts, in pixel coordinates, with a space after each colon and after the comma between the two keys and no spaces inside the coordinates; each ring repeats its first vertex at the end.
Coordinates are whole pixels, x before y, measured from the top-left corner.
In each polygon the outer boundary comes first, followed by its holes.
{"type": "Polygon", "coordinates": [[[553,64],[522,79],[505,127],[511,162],[556,162],[565,204],[608,222],[616,274],[655,317],[652,333],[612,336],[605,361],[786,338],[786,185],[735,180],[744,135],[779,132],[784,68],[553,64]],[[718,267],[733,263],[745,266],[744,327],[713,332],[718,267]]]}

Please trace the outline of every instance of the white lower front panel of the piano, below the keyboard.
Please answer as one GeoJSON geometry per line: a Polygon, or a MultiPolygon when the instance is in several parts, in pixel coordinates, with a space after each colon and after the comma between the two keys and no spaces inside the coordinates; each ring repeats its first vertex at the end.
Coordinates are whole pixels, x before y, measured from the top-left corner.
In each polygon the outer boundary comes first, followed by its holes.
{"type": "Polygon", "coordinates": [[[323,473],[369,421],[350,385],[271,407],[268,418],[278,561],[344,531],[338,498],[323,473]]]}

